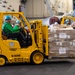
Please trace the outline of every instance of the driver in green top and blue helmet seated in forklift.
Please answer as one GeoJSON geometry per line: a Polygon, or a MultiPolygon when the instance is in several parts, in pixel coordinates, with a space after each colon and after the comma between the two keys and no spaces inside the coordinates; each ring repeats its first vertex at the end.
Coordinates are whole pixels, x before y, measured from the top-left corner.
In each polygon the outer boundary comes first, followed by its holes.
{"type": "Polygon", "coordinates": [[[5,16],[5,22],[2,26],[2,30],[3,35],[6,35],[7,38],[17,38],[20,43],[20,46],[25,46],[25,37],[23,36],[23,34],[19,32],[19,28],[13,28],[11,25],[11,16],[5,16]]]}

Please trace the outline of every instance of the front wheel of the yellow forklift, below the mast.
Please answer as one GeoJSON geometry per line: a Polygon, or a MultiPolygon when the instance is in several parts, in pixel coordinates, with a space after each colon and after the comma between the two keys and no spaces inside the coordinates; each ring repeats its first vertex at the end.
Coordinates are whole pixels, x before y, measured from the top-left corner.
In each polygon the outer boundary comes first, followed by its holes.
{"type": "Polygon", "coordinates": [[[30,60],[32,64],[36,65],[42,64],[44,62],[44,55],[39,51],[35,51],[32,53],[30,60]]]}

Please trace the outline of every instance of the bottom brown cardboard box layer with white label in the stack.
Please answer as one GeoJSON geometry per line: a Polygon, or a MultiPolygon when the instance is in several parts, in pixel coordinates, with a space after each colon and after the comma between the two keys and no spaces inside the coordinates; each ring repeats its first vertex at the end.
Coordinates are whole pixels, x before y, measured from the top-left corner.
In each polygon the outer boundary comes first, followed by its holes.
{"type": "Polygon", "coordinates": [[[50,56],[56,57],[75,57],[75,48],[67,48],[67,47],[54,47],[49,49],[50,56]]]}

